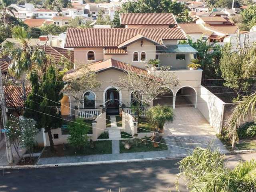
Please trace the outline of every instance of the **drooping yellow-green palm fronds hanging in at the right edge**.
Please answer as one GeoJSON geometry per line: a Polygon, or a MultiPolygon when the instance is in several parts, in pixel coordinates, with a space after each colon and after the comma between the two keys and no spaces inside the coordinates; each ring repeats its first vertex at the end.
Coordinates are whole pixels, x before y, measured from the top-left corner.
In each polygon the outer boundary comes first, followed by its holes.
{"type": "MultiPolygon", "coordinates": [[[[255,62],[255,45],[249,48],[244,48],[246,54],[244,55],[245,78],[251,78],[256,74],[256,62],[255,62]]],[[[225,123],[225,130],[228,138],[232,141],[232,148],[236,142],[238,142],[238,128],[241,123],[246,122],[249,117],[256,120],[256,92],[253,92],[249,96],[244,96],[232,110],[231,115],[225,123]]]]}

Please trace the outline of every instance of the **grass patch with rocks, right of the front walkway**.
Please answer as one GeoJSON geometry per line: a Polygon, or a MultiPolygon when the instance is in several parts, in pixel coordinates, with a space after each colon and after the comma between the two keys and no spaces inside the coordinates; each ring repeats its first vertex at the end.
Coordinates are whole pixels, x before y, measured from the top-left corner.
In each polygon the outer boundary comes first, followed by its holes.
{"type": "MultiPolygon", "coordinates": [[[[147,140],[150,140],[150,138],[147,138],[147,140]]],[[[120,140],[120,143],[119,143],[120,153],[168,150],[167,145],[165,145],[164,139],[162,139],[162,141],[161,141],[161,143],[163,143],[163,144],[159,144],[159,147],[154,147],[153,143],[148,141],[147,145],[145,145],[144,143],[140,143],[140,142],[139,142],[138,146],[136,146],[135,144],[132,144],[132,147],[130,149],[125,149],[124,148],[124,144],[122,144],[122,142],[125,142],[125,141],[130,141],[130,140],[120,140]]]]}

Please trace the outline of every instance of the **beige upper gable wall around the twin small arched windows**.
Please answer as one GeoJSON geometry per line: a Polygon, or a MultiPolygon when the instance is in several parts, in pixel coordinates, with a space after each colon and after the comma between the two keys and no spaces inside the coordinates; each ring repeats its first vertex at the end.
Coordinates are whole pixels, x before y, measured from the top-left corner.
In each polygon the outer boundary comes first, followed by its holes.
{"type": "Polygon", "coordinates": [[[156,58],[156,46],[152,44],[151,42],[148,42],[147,40],[143,40],[143,45],[140,46],[140,40],[137,42],[134,42],[127,46],[127,54],[126,55],[105,55],[104,54],[104,60],[108,60],[110,58],[118,61],[122,61],[127,64],[131,64],[140,68],[144,68],[146,62],[145,61],[138,61],[133,62],[133,53],[136,51],[139,53],[139,59],[140,59],[140,53],[146,52],[146,61],[150,59],[156,58]]]}

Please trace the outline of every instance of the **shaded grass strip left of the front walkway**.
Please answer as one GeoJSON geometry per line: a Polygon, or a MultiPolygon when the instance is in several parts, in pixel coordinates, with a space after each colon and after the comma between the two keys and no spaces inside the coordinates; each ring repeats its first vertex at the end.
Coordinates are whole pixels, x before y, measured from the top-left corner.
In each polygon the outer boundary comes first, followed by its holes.
{"type": "Polygon", "coordinates": [[[41,155],[41,158],[112,153],[111,141],[95,141],[94,148],[90,148],[88,144],[83,152],[76,152],[72,147],[68,146],[68,144],[65,144],[65,146],[66,147],[64,147],[64,144],[54,146],[54,153],[50,151],[50,147],[46,147],[41,155]],[[66,149],[64,150],[64,148],[66,149]]]}

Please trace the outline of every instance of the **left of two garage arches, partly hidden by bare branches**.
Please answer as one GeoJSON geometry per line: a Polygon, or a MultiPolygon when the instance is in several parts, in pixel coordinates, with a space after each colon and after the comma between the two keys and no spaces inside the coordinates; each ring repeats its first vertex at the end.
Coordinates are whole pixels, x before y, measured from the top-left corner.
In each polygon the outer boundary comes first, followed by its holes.
{"type": "Polygon", "coordinates": [[[161,106],[173,106],[173,92],[169,88],[163,88],[164,89],[164,94],[161,94],[157,96],[153,100],[153,106],[161,105],[161,106]]]}

